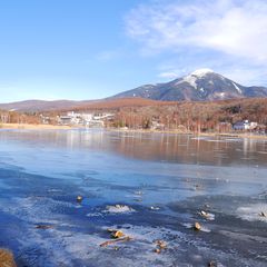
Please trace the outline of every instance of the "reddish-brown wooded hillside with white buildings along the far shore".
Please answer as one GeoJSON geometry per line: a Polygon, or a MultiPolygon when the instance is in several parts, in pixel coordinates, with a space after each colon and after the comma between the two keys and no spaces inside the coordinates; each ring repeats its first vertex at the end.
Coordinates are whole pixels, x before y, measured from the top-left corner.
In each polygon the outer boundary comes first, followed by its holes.
{"type": "Polygon", "coordinates": [[[138,98],[97,102],[72,110],[1,110],[8,123],[175,132],[267,134],[267,99],[162,102],[138,98]]]}

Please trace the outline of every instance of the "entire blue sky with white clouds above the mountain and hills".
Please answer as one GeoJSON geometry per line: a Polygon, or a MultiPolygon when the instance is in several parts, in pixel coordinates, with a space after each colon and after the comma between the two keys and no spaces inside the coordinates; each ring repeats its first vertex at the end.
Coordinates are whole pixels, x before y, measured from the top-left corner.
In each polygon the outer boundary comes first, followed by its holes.
{"type": "Polygon", "coordinates": [[[198,68],[267,86],[264,0],[0,1],[0,102],[98,99],[198,68]]]}

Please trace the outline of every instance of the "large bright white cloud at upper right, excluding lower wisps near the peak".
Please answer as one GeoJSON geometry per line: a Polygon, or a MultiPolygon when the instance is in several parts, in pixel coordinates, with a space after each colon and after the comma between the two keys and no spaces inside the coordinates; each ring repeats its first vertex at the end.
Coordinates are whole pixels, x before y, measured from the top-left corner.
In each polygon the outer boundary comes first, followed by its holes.
{"type": "Polygon", "coordinates": [[[211,49],[265,62],[266,13],[265,0],[151,1],[131,10],[126,29],[150,53],[211,49]]]}

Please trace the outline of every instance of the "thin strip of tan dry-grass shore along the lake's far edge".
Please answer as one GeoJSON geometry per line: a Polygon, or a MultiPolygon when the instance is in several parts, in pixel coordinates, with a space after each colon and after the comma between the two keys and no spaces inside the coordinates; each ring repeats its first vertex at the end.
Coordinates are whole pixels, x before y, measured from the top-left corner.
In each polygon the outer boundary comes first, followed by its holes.
{"type": "MultiPolygon", "coordinates": [[[[30,123],[0,123],[0,130],[71,130],[82,129],[81,126],[60,126],[60,125],[30,125],[30,123]]],[[[190,132],[178,130],[145,130],[145,129],[117,129],[103,128],[108,131],[117,132],[136,132],[136,134],[170,134],[170,135],[190,135],[195,137],[229,137],[229,138],[248,138],[267,140],[267,135],[255,135],[250,132],[190,132]]]]}

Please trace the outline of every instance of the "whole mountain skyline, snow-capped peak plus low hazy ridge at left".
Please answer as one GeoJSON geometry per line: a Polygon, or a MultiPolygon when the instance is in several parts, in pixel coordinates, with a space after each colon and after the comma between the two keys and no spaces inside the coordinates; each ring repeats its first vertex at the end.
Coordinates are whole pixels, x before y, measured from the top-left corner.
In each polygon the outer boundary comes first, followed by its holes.
{"type": "MultiPolygon", "coordinates": [[[[266,87],[245,87],[210,69],[198,69],[194,72],[168,82],[144,85],[109,98],[99,100],[23,100],[0,103],[0,109],[24,112],[51,111],[86,107],[87,105],[105,105],[112,99],[144,98],[156,101],[217,101],[240,98],[266,98],[266,87]]],[[[135,105],[137,100],[135,101],[135,105]]],[[[130,101],[128,100],[128,103],[130,101]]],[[[148,105],[146,102],[146,105],[148,105]]]]}

